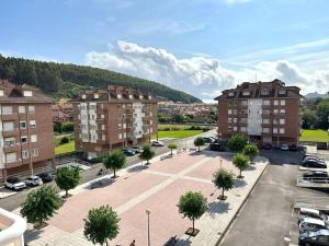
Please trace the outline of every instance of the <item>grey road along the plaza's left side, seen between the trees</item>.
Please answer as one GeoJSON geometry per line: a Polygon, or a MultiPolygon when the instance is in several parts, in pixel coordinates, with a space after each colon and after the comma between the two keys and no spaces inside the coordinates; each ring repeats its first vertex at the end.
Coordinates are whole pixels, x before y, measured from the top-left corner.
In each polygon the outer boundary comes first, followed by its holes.
{"type": "MultiPolygon", "coordinates": [[[[160,148],[154,148],[154,150],[156,151],[156,155],[160,155],[160,154],[163,154],[166,152],[169,151],[168,149],[168,144],[171,143],[171,142],[175,142],[180,148],[194,148],[194,139],[197,138],[197,137],[201,137],[201,136],[215,136],[216,134],[216,130],[211,130],[211,131],[207,131],[207,132],[204,132],[202,134],[198,134],[198,136],[194,136],[194,137],[191,137],[191,138],[188,138],[188,139],[182,139],[182,140],[171,140],[171,141],[166,141],[166,147],[160,147],[160,148]]],[[[127,161],[127,165],[134,165],[136,163],[140,162],[140,159],[138,157],[138,155],[135,155],[135,156],[129,156],[128,157],[128,161],[127,161]]],[[[95,165],[92,165],[90,169],[88,171],[84,171],[82,173],[82,177],[81,177],[81,184],[83,183],[87,183],[87,181],[90,181],[90,180],[93,180],[95,179],[98,176],[98,173],[100,171],[100,168],[103,167],[102,164],[95,164],[95,165]]],[[[111,174],[112,172],[110,172],[111,174]]],[[[53,181],[52,185],[54,185],[56,187],[56,184],[53,181]]],[[[33,188],[33,189],[36,189],[36,188],[33,188]]],[[[32,190],[32,188],[30,189],[25,189],[23,191],[20,191],[11,197],[7,197],[7,198],[3,198],[3,199],[0,199],[0,208],[2,209],[5,209],[5,210],[9,210],[9,211],[12,211],[16,208],[19,208],[22,202],[26,199],[27,197],[27,194],[32,190]]]]}

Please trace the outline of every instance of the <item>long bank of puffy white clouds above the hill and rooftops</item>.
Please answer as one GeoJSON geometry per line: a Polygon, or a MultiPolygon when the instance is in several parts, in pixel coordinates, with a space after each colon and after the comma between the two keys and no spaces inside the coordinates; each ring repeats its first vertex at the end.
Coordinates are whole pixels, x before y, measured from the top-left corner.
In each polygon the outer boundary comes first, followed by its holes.
{"type": "Polygon", "coordinates": [[[242,81],[281,79],[302,87],[303,93],[329,87],[329,72],[302,70],[287,60],[260,61],[248,68],[227,69],[217,59],[191,57],[180,59],[161,48],[141,47],[120,40],[105,52],[86,55],[86,65],[154,80],[209,101],[222,90],[242,81]]]}

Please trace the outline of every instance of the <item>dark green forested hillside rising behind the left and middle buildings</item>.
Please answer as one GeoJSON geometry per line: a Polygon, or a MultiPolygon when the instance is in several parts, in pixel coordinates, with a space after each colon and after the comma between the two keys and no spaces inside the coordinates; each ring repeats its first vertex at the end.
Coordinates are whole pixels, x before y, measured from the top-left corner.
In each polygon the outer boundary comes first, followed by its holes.
{"type": "Polygon", "coordinates": [[[200,102],[184,92],[160,83],[87,66],[5,58],[0,55],[0,78],[42,89],[53,97],[73,97],[84,89],[104,87],[106,84],[135,87],[150,92],[160,99],[200,102]]]}

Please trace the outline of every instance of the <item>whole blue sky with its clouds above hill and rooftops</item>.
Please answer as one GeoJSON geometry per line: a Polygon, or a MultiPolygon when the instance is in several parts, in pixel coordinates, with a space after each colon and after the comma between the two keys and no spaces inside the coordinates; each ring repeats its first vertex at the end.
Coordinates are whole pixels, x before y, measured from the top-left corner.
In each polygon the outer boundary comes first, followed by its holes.
{"type": "Polygon", "coordinates": [[[88,65],[213,102],[243,81],[329,91],[328,0],[1,1],[0,54],[88,65]]]}

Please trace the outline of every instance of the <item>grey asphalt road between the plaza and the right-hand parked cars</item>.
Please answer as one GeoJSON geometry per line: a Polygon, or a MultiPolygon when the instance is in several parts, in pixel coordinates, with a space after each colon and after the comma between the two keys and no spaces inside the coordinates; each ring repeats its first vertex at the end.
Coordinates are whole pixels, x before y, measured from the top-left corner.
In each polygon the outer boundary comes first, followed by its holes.
{"type": "Polygon", "coordinates": [[[322,191],[296,187],[298,152],[263,151],[271,164],[217,246],[281,246],[291,230],[296,198],[328,196],[322,191]]]}

